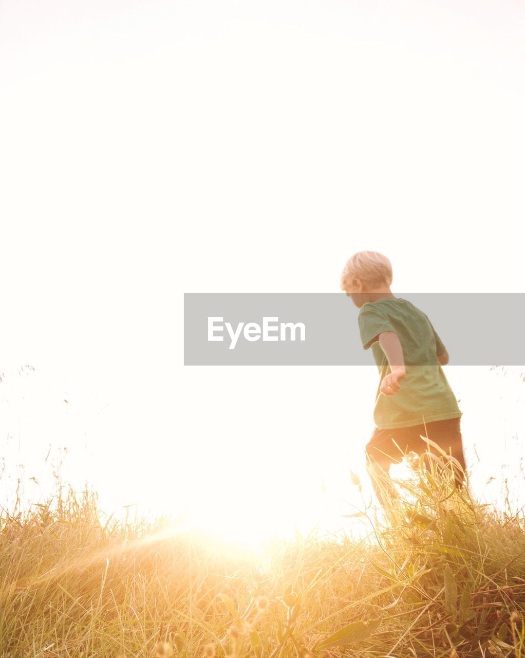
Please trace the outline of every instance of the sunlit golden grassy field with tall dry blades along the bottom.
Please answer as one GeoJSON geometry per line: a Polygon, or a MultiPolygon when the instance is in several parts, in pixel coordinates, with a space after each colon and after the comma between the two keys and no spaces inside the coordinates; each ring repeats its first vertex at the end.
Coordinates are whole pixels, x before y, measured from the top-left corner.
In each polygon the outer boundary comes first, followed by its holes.
{"type": "Polygon", "coordinates": [[[257,557],[166,519],[105,519],[88,492],[19,503],[1,517],[0,655],[525,655],[522,515],[435,470],[415,470],[384,519],[359,515],[363,539],[257,557]]]}

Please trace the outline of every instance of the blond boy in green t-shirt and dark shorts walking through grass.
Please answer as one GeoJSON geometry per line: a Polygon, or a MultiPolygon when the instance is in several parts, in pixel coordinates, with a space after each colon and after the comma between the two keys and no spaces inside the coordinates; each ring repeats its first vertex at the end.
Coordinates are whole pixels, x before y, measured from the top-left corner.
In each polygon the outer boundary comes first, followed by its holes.
{"type": "Polygon", "coordinates": [[[366,445],[366,467],[382,504],[381,483],[389,482],[390,466],[410,451],[428,451],[421,435],[457,460],[463,469],[455,465],[457,486],[463,484],[465,469],[461,411],[441,368],[449,355],[428,317],[406,299],[394,297],[391,282],[390,261],[376,251],[353,255],[341,275],[341,289],[361,309],[363,347],[372,347],[380,372],[376,429],[366,445]]]}

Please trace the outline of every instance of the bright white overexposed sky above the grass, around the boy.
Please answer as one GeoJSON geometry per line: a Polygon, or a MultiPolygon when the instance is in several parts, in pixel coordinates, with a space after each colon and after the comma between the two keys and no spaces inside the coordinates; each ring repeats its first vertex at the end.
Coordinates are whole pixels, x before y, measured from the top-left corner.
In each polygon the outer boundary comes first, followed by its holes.
{"type": "MultiPolygon", "coordinates": [[[[107,509],[336,523],[375,368],[184,368],[182,293],[336,291],[360,249],[398,293],[524,291],[518,1],[3,0],[0,61],[0,438],[27,477],[67,445],[107,509]]],[[[525,385],[447,375],[490,498],[525,385]]]]}

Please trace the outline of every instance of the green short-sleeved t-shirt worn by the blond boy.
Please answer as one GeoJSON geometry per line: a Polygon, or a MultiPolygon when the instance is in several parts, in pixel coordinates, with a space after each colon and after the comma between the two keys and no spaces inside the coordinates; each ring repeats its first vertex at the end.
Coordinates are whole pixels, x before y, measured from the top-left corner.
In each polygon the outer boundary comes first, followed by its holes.
{"type": "Polygon", "coordinates": [[[380,383],[390,372],[388,359],[379,344],[379,334],[384,331],[399,336],[407,374],[394,395],[383,395],[378,386],[374,408],[376,426],[393,429],[460,417],[456,397],[438,361],[445,345],[428,317],[401,297],[385,297],[361,307],[361,342],[364,349],[372,347],[380,383]]]}

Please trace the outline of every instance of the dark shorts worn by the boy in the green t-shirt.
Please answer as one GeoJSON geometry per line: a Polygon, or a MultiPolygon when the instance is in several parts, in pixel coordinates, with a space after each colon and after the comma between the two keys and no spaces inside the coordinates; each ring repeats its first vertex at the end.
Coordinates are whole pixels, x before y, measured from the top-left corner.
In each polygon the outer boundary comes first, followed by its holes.
{"type": "MultiPolygon", "coordinates": [[[[401,463],[403,456],[409,452],[422,455],[428,451],[429,444],[420,438],[420,436],[427,436],[447,454],[455,457],[464,469],[460,420],[461,418],[447,418],[447,420],[428,422],[426,425],[414,425],[393,430],[380,430],[376,427],[372,438],[366,445],[366,455],[368,459],[388,470],[391,464],[401,463]]],[[[436,453],[437,451],[430,446],[430,452],[436,453]]]]}

